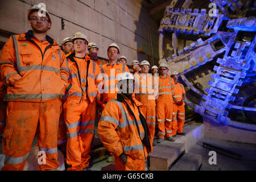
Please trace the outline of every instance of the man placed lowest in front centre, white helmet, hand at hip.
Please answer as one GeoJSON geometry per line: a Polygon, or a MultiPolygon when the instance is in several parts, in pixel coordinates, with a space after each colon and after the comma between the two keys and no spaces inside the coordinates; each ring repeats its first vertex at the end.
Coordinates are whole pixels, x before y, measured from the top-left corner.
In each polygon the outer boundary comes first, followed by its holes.
{"type": "Polygon", "coordinates": [[[97,131],[104,147],[114,155],[115,170],[145,170],[152,144],[142,104],[131,97],[134,77],[125,72],[118,75],[118,80],[117,96],[106,104],[97,131]]]}

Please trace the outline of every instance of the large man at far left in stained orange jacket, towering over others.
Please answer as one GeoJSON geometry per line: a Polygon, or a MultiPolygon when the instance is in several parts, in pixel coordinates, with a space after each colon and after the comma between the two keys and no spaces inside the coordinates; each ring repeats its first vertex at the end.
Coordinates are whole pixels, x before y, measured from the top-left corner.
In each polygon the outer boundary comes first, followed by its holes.
{"type": "Polygon", "coordinates": [[[13,35],[0,55],[1,77],[7,84],[6,128],[3,132],[5,166],[2,170],[23,170],[35,134],[46,161],[39,170],[59,167],[57,131],[68,80],[65,55],[47,36],[52,26],[48,11],[40,5],[28,10],[32,30],[13,35]],[[40,11],[39,11],[40,10],[40,11]]]}

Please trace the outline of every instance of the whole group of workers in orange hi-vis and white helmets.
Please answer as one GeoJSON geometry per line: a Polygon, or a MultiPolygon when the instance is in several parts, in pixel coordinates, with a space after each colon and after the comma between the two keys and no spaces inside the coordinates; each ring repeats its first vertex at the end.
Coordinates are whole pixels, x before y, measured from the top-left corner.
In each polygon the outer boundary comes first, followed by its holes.
{"type": "Polygon", "coordinates": [[[117,44],[107,48],[107,62],[81,32],[59,46],[47,35],[48,11],[40,10],[28,10],[32,30],[11,36],[0,54],[2,170],[23,170],[35,135],[46,154],[38,170],[57,169],[59,149],[68,170],[77,171],[90,170],[96,129],[116,170],[145,170],[155,130],[157,143],[185,135],[185,90],[177,72],[170,76],[160,64],[151,74],[147,60],[134,60],[131,73],[117,44]]]}

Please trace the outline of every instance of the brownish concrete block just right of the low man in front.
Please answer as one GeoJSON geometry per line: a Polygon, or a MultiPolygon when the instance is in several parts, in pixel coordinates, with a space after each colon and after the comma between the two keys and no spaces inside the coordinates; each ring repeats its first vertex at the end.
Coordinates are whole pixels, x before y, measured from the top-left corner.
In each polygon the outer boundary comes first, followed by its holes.
{"type": "Polygon", "coordinates": [[[164,141],[154,146],[153,151],[148,154],[150,157],[150,171],[168,171],[171,164],[185,150],[183,143],[164,141]]]}

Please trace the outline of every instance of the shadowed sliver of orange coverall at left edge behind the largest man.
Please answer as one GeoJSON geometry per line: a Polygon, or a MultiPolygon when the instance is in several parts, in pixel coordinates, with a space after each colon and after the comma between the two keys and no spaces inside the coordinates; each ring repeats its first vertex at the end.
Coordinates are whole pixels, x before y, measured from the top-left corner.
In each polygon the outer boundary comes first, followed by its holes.
{"type": "Polygon", "coordinates": [[[6,95],[7,85],[1,81],[0,77],[0,136],[2,137],[5,130],[6,107],[7,102],[3,102],[3,97],[6,95]]]}

